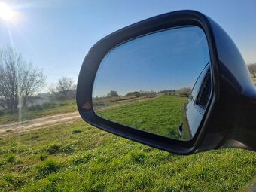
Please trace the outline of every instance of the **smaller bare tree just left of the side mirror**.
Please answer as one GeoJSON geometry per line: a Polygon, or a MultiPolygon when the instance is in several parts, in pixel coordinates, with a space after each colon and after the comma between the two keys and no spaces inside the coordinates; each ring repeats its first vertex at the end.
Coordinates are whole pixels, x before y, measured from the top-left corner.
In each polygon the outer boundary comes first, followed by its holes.
{"type": "Polygon", "coordinates": [[[51,92],[55,93],[61,99],[68,99],[69,93],[72,90],[75,90],[75,87],[76,86],[72,78],[62,77],[59,78],[51,92]]]}

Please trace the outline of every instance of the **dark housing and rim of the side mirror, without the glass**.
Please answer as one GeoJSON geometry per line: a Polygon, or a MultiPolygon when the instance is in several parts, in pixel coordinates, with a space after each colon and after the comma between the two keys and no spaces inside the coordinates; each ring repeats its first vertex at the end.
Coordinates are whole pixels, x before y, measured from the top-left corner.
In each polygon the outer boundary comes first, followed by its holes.
{"type": "Polygon", "coordinates": [[[175,154],[193,154],[217,148],[256,151],[256,89],[236,45],[209,17],[197,11],[175,11],[142,20],[102,38],[87,53],[77,87],[81,117],[99,129],[175,154]],[[188,141],[170,139],[105,120],[93,111],[93,83],[99,64],[117,45],[142,35],[180,26],[198,26],[205,32],[210,53],[212,94],[203,120],[188,141]]]}

